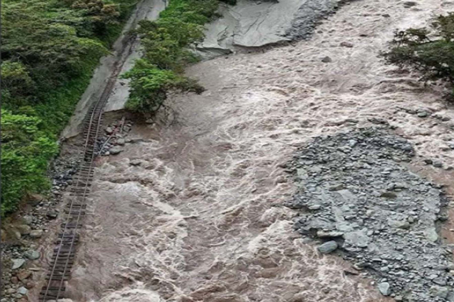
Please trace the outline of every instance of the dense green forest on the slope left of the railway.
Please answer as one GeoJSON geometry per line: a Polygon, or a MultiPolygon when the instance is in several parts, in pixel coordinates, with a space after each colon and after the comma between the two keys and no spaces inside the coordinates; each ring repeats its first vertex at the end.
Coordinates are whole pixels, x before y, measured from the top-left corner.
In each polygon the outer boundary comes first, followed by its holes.
{"type": "Polygon", "coordinates": [[[2,215],[49,188],[57,136],[136,2],[2,1],[2,215]]]}

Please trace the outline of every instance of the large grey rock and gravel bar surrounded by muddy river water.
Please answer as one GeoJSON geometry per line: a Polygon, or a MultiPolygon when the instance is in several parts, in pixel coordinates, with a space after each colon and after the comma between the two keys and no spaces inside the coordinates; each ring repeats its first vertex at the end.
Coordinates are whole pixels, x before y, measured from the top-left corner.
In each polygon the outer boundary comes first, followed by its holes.
{"type": "Polygon", "coordinates": [[[412,146],[384,128],[317,137],[289,165],[299,187],[289,203],[300,209],[295,229],[324,242],[372,275],[396,301],[454,301],[453,246],[437,233],[441,186],[411,173],[412,146]]]}

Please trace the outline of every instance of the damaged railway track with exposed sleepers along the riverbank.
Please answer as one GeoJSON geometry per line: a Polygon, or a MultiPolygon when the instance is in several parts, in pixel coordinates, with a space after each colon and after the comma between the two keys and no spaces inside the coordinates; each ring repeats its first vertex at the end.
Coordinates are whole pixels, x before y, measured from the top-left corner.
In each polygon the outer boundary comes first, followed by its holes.
{"type": "Polygon", "coordinates": [[[74,265],[76,247],[79,242],[79,229],[86,214],[87,197],[94,176],[94,160],[98,156],[98,136],[102,128],[104,106],[114,88],[124,62],[131,53],[133,42],[126,41],[126,47],[119,55],[114,71],[99,97],[84,120],[84,148],[78,172],[70,187],[69,200],[64,210],[61,231],[55,242],[54,253],[50,260],[46,284],[39,293],[39,301],[57,300],[65,297],[65,281],[69,280],[74,265]]]}

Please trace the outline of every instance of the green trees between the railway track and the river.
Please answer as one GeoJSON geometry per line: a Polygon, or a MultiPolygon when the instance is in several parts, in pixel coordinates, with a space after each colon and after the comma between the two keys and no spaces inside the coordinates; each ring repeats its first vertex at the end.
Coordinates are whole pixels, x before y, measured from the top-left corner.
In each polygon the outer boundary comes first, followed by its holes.
{"type": "MultiPolygon", "coordinates": [[[[234,4],[234,1],[228,1],[234,4]]],[[[197,81],[183,76],[183,67],[197,58],[188,46],[203,39],[203,24],[216,17],[217,0],[171,0],[156,21],[141,21],[144,56],[123,77],[131,80],[126,108],[153,114],[164,105],[168,91],[201,93],[197,81]]]]}

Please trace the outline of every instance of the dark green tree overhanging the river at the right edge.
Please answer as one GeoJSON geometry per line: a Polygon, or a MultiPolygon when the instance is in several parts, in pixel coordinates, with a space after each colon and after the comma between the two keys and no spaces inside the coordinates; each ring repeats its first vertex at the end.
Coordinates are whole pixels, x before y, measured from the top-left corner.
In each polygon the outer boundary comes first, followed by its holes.
{"type": "Polygon", "coordinates": [[[454,13],[431,20],[429,29],[396,31],[390,51],[381,53],[389,64],[421,72],[422,80],[454,84],[454,13]]]}

